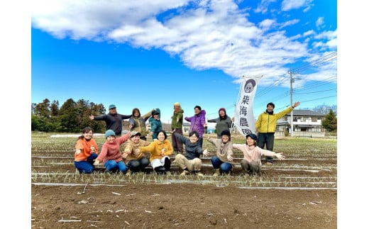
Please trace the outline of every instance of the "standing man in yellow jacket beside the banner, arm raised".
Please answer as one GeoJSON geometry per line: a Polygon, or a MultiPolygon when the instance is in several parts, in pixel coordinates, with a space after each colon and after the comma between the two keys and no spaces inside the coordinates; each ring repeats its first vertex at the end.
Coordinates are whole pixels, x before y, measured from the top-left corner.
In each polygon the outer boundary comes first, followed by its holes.
{"type": "MultiPolygon", "coordinates": [[[[258,120],[255,122],[255,133],[258,135],[258,147],[273,151],[274,147],[274,133],[277,128],[277,120],[290,113],[294,108],[299,106],[299,102],[295,102],[294,105],[286,108],[285,110],[274,113],[275,105],[273,103],[267,104],[267,109],[261,113],[258,120]]],[[[267,165],[273,164],[272,157],[265,157],[267,165]]]]}

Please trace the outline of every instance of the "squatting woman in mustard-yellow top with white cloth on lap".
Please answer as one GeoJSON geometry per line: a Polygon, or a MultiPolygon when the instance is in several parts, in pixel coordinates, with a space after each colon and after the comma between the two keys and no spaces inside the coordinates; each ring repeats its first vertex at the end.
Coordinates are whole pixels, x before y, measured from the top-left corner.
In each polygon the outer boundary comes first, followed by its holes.
{"type": "Polygon", "coordinates": [[[154,172],[158,174],[170,175],[170,155],[173,154],[172,143],[167,140],[165,130],[160,130],[158,140],[150,143],[148,146],[138,147],[138,152],[150,152],[150,163],[154,172]]]}

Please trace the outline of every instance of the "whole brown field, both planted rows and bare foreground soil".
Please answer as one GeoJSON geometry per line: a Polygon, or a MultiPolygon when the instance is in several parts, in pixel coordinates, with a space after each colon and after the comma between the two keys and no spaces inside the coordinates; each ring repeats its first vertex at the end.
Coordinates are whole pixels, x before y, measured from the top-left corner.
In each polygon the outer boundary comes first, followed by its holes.
{"type": "MultiPolygon", "coordinates": [[[[237,150],[229,175],[212,176],[211,154],[204,177],[180,177],[177,164],[170,175],[149,166],[128,177],[104,167],[77,174],[77,138],[50,136],[32,135],[32,228],[337,228],[336,140],[277,138],[286,160],[263,165],[258,177],[244,174],[237,150]]],[[[215,152],[206,140],[204,148],[215,152]]]]}

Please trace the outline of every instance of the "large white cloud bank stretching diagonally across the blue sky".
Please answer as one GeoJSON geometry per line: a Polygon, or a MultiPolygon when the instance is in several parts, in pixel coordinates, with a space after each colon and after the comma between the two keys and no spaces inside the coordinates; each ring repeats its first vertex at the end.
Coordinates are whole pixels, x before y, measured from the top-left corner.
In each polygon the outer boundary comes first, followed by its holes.
{"type": "MultiPolygon", "coordinates": [[[[261,1],[259,11],[274,0],[261,1]]],[[[134,47],[159,48],[178,55],[194,69],[221,69],[239,78],[264,75],[263,83],[273,82],[287,72],[288,63],[309,57],[307,43],[295,34],[269,30],[299,23],[292,19],[276,24],[266,19],[258,24],[248,21],[248,9],[238,9],[231,0],[199,1],[35,1],[32,23],[57,38],[114,40],[134,47]],[[191,2],[191,5],[196,2],[191,2]],[[170,13],[168,13],[170,11],[170,13]]],[[[306,7],[310,1],[283,1],[282,8],[306,7]]],[[[312,30],[304,36],[314,34],[312,30]]],[[[336,37],[321,33],[315,45],[334,48],[336,37]],[[319,43],[321,42],[321,43],[319,43]]]]}

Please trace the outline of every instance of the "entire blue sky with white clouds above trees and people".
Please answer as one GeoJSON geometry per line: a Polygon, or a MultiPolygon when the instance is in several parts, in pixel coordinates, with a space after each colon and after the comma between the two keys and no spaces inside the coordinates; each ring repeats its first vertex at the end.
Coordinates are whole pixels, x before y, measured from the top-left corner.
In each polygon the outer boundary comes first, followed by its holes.
{"type": "Polygon", "coordinates": [[[275,103],[337,104],[336,1],[34,1],[31,102],[115,104],[117,111],[179,101],[184,116],[233,116],[242,77],[263,76],[254,116],[275,103]]]}

